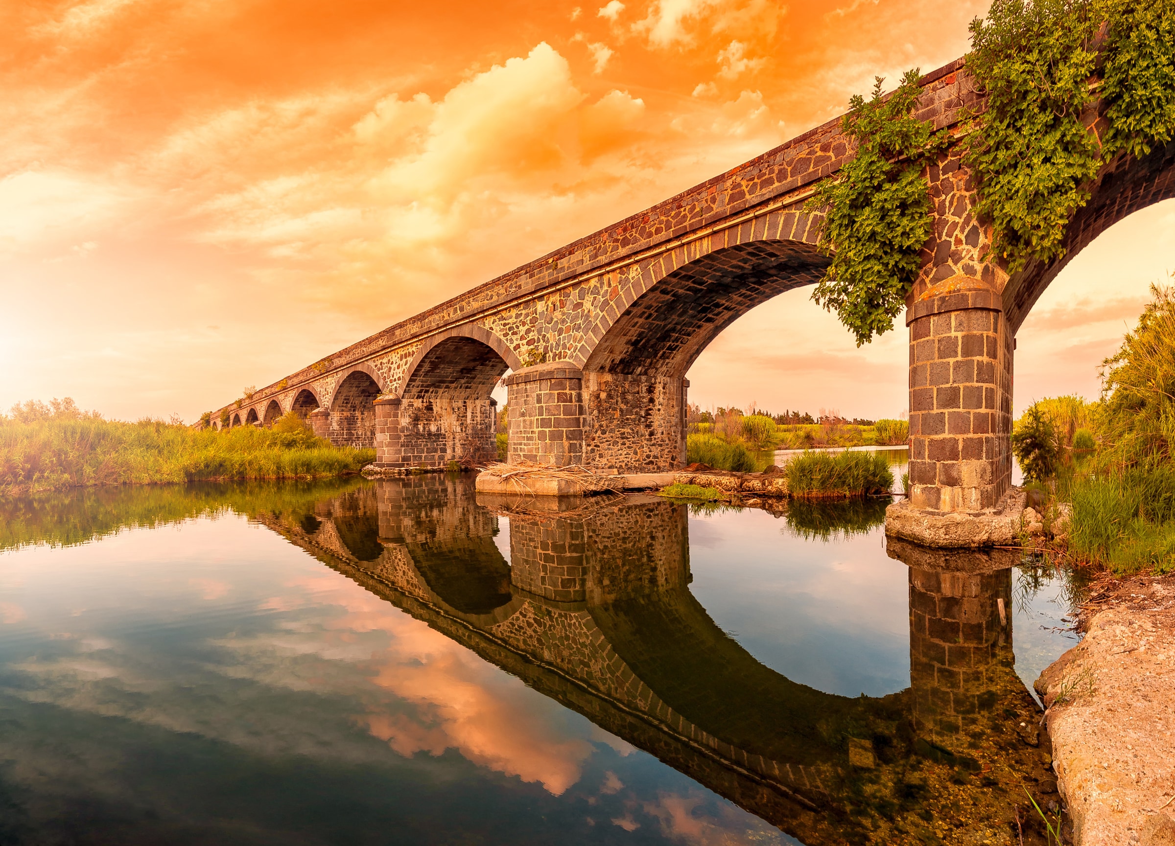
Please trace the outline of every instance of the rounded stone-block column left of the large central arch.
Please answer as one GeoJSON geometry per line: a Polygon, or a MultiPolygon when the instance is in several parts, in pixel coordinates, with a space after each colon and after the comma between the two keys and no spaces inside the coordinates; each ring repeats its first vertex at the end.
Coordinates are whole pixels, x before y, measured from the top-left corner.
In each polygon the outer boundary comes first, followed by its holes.
{"type": "Polygon", "coordinates": [[[505,384],[509,462],[583,463],[583,372],[566,362],[551,362],[516,370],[505,384]]]}

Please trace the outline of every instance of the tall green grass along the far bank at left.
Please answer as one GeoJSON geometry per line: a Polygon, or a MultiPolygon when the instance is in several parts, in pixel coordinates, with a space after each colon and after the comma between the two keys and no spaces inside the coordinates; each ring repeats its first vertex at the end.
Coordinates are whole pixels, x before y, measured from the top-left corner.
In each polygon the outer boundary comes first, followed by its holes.
{"type": "Polygon", "coordinates": [[[375,450],[333,446],[294,415],[273,429],[224,432],[96,416],[0,418],[0,495],[202,479],[277,479],[357,472],[375,450]]]}

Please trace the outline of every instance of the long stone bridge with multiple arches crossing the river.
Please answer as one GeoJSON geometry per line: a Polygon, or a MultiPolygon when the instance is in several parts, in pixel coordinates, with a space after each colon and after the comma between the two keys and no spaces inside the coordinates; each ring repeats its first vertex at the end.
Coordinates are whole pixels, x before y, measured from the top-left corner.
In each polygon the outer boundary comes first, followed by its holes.
{"type": "MultiPolygon", "coordinates": [[[[981,108],[956,60],[921,80],[916,115],[956,125],[981,108]]],[[[1088,125],[1103,125],[1100,103],[1088,125]]],[[[287,411],[387,468],[494,458],[495,402],[509,390],[509,459],[622,472],[685,461],[690,365],[732,321],[814,283],[817,184],[852,155],[839,120],[640,214],[340,350],[213,412],[215,425],[287,411]]],[[[928,167],[934,229],[907,298],[911,503],[992,508],[1012,475],[1015,335],[1065,263],[1110,224],[1175,196],[1175,142],[1121,156],[1069,226],[1066,258],[1009,275],[976,220],[955,143],[928,167]]]]}

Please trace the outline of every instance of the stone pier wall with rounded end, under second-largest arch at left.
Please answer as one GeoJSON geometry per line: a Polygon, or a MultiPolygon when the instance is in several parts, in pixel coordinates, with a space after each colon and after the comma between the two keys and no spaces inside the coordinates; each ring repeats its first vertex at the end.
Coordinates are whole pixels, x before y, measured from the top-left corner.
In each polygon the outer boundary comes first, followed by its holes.
{"type": "Polygon", "coordinates": [[[497,456],[495,400],[432,396],[375,401],[376,466],[439,469],[497,456]]]}

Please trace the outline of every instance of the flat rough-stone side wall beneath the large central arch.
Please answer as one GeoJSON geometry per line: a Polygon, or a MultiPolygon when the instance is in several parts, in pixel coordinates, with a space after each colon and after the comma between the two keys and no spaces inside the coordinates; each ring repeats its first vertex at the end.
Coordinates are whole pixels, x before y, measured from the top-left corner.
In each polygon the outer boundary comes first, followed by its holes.
{"type": "Polygon", "coordinates": [[[618,472],[685,466],[689,380],[584,374],[584,464],[618,472]]]}

